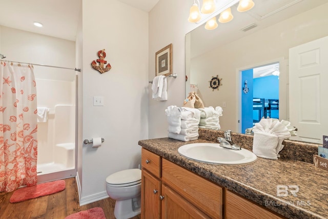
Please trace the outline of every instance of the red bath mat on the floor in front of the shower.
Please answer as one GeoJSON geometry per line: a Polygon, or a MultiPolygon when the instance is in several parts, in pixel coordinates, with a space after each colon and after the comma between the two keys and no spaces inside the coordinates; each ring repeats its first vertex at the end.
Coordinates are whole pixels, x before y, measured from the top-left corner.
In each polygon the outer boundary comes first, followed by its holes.
{"type": "Polygon", "coordinates": [[[49,183],[37,184],[35,186],[24,187],[17,189],[11,195],[9,202],[23,202],[32,198],[50,195],[56,192],[63,191],[65,189],[65,181],[58,180],[49,183]]]}

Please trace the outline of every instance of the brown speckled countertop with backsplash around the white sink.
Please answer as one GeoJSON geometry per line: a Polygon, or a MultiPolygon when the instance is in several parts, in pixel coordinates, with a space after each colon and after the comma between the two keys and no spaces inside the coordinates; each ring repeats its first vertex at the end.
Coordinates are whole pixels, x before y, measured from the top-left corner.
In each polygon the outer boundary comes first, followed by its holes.
{"type": "MultiPolygon", "coordinates": [[[[213,143],[215,136],[223,136],[222,131],[202,129],[199,134],[198,140],[189,142],[165,137],[140,140],[139,145],[285,217],[328,217],[328,171],[316,168],[311,160],[317,145],[284,141],[278,160],[258,157],[247,165],[215,165],[192,161],[178,153],[182,145],[213,143]],[[278,185],[298,186],[297,196],[278,197],[278,185]]],[[[236,144],[252,150],[253,136],[233,133],[232,137],[236,144]]]]}

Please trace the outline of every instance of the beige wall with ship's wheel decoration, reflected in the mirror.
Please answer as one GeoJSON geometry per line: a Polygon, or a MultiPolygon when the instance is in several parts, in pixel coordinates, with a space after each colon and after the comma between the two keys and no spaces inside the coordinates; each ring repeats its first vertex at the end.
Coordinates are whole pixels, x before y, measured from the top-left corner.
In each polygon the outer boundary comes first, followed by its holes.
{"type": "MultiPolygon", "coordinates": [[[[279,76],[279,118],[288,120],[288,59],[289,48],[328,35],[326,10],[328,4],[306,11],[271,27],[257,31],[237,41],[223,45],[192,59],[191,78],[206,106],[222,106],[220,117],[222,130],[238,131],[236,116],[236,69],[256,67],[271,61],[284,59],[279,76]],[[311,21],[309,21],[311,17],[311,21]],[[198,73],[196,73],[198,72],[198,73]],[[201,74],[199,74],[201,72],[201,74]],[[222,78],[219,91],[209,88],[210,78],[218,74],[222,78]]],[[[240,69],[241,70],[241,69],[240,69]]],[[[240,89],[241,87],[239,87],[240,89]]],[[[240,91],[241,92],[241,91],[240,91]]]]}

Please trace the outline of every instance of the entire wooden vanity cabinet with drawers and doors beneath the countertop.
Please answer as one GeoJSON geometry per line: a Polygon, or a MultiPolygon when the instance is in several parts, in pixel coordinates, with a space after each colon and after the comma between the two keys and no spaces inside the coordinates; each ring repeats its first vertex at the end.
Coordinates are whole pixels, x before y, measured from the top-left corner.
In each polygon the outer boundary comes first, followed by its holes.
{"type": "Polygon", "coordinates": [[[285,218],[144,148],[141,164],[141,218],[285,218]]]}

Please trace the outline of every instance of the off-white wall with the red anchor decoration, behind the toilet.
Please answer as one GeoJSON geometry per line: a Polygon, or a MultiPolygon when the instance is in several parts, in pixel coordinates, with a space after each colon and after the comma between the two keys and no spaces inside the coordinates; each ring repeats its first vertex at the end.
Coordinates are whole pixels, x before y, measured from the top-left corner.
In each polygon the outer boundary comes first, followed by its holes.
{"type": "Polygon", "coordinates": [[[83,139],[105,138],[99,148],[79,145],[86,204],[107,195],[108,175],[141,160],[138,141],[148,138],[148,13],[116,0],[84,0],[82,29],[83,139]],[[101,49],[112,66],[103,74],[91,68],[101,49]],[[105,106],[93,106],[93,96],[104,96],[105,106]]]}

